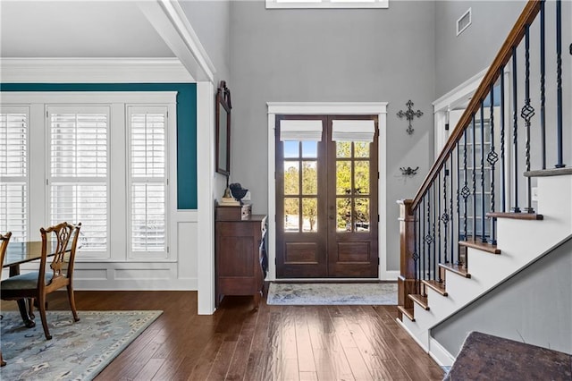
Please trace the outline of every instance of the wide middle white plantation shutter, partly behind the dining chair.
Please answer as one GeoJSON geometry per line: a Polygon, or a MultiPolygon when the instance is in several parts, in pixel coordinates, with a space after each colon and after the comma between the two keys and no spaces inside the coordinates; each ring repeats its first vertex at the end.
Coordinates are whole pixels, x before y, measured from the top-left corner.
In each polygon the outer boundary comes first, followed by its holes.
{"type": "Polygon", "coordinates": [[[107,250],[109,107],[48,106],[51,224],[81,223],[80,250],[107,250]]]}

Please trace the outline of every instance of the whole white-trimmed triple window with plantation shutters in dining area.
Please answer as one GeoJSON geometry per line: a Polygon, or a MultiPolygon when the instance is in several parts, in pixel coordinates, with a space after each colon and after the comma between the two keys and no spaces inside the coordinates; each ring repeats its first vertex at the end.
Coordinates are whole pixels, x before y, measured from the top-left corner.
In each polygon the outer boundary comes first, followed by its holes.
{"type": "Polygon", "coordinates": [[[1,233],[81,223],[79,262],[176,260],[175,91],[1,95],[1,233]]]}

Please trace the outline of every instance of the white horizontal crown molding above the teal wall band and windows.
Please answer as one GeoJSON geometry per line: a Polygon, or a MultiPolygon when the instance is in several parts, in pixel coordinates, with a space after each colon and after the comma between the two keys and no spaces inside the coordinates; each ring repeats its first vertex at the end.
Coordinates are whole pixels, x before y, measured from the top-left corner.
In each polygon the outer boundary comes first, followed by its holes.
{"type": "Polygon", "coordinates": [[[194,82],[177,58],[0,58],[3,83],[194,82]]]}

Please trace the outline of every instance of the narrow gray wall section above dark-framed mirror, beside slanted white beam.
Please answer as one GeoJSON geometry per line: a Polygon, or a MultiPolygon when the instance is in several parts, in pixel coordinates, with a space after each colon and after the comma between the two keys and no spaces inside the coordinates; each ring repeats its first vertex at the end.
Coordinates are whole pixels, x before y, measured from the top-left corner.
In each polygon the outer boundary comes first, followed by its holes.
{"type": "Polygon", "coordinates": [[[230,0],[180,1],[179,4],[216,68],[216,83],[226,80],[227,85],[231,85],[230,0]]]}

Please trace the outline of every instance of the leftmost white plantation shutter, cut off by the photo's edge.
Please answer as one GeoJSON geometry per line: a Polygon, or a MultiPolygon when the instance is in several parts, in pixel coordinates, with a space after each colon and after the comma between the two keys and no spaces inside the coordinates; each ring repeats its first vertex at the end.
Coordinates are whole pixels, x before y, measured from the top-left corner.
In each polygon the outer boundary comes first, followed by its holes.
{"type": "Polygon", "coordinates": [[[0,110],[0,233],[28,239],[28,107],[0,110]]]}

